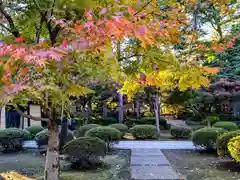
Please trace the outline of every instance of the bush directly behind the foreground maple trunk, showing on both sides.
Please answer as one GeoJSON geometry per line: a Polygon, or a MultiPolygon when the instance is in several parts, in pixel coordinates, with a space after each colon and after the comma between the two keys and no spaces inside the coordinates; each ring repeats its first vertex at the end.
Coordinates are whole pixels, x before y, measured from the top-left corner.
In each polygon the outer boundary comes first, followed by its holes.
{"type": "MultiPolygon", "coordinates": [[[[60,136],[60,134],[59,134],[60,136]]],[[[38,146],[44,146],[48,144],[48,129],[44,129],[36,134],[35,141],[37,142],[38,146]]],[[[73,132],[68,130],[66,142],[69,142],[73,139],[73,132]]]]}

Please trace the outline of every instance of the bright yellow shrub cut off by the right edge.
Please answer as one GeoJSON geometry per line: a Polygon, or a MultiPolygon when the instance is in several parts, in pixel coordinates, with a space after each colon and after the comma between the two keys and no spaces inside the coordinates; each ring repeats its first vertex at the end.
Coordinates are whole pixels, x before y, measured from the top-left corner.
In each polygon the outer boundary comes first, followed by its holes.
{"type": "Polygon", "coordinates": [[[240,162],[240,136],[234,137],[229,141],[228,151],[235,161],[240,162]]]}

